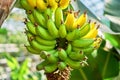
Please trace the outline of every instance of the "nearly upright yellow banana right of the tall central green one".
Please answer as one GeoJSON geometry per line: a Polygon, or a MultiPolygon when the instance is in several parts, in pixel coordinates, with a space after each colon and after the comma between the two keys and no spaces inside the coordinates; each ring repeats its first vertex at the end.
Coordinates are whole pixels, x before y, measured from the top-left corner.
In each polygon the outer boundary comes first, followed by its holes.
{"type": "Polygon", "coordinates": [[[66,20],[65,20],[65,26],[66,26],[66,29],[68,31],[72,30],[74,21],[75,21],[74,13],[72,11],[70,11],[67,14],[67,17],[66,17],[66,20]]]}

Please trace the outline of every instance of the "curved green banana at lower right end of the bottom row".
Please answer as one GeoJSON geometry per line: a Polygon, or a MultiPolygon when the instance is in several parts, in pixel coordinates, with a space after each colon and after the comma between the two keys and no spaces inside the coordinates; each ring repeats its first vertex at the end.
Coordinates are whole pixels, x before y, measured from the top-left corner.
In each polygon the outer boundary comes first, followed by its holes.
{"type": "Polygon", "coordinates": [[[68,64],[72,69],[79,69],[81,67],[81,64],[79,61],[74,61],[69,57],[65,60],[65,63],[68,64]]]}

